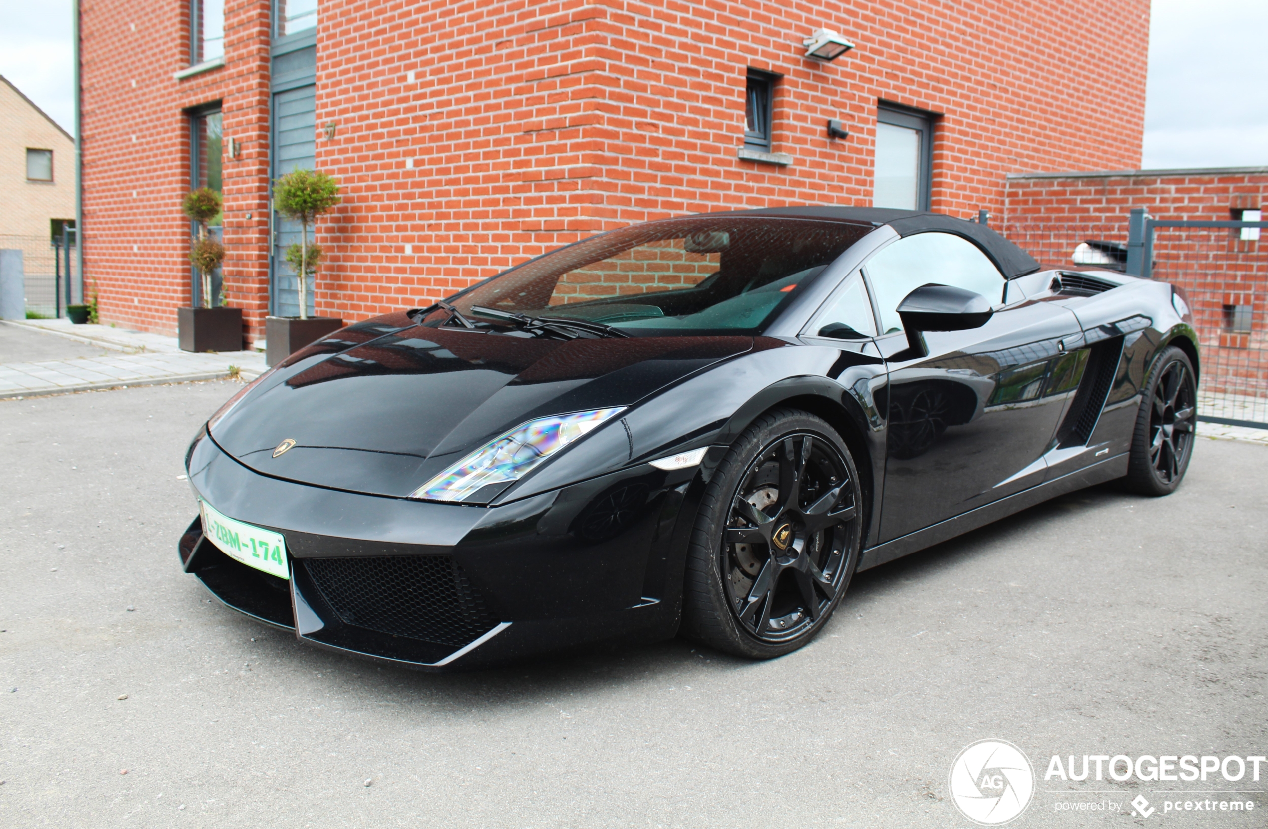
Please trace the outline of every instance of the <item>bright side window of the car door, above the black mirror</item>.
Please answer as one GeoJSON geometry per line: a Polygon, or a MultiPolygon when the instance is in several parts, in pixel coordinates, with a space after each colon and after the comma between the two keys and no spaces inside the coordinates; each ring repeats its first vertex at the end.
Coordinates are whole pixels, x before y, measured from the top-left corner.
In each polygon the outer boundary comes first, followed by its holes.
{"type": "Polygon", "coordinates": [[[864,265],[876,294],[883,333],[903,330],[898,305],[921,285],[954,285],[981,294],[995,305],[1003,302],[999,269],[969,240],[952,233],[917,233],[898,240],[864,265]]]}

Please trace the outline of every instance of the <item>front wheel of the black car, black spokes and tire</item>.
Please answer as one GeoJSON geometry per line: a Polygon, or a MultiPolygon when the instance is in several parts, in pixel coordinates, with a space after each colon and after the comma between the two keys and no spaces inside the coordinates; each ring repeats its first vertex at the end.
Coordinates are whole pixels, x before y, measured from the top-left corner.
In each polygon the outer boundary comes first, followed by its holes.
{"type": "Polygon", "coordinates": [[[862,518],[858,473],[836,430],[796,409],[763,414],[732,445],[701,498],[682,634],[749,659],[801,648],[850,586],[862,518]]]}

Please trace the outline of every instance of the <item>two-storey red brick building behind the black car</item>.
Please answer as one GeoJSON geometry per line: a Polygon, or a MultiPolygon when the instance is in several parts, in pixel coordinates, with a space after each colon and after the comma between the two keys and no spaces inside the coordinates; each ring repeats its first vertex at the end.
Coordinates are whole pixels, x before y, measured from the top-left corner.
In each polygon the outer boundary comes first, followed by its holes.
{"type": "Polygon", "coordinates": [[[194,299],[179,203],[199,183],[224,194],[224,298],[249,338],[294,313],[269,181],[295,166],[342,186],[316,311],[358,319],[624,223],[999,214],[1009,172],[1140,161],[1148,0],[223,0],[223,25],[219,4],[81,0],[103,319],[175,328],[194,299]],[[820,28],[855,48],[806,57],[820,28]]]}

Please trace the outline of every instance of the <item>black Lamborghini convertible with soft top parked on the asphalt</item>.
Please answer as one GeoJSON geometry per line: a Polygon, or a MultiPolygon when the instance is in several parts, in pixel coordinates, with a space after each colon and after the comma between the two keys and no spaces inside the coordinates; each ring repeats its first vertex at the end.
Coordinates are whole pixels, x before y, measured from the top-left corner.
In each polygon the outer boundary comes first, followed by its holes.
{"type": "Polygon", "coordinates": [[[710,213],[361,322],[189,447],[180,560],[301,641],[465,668],[809,641],[855,572],[1193,447],[1183,295],[933,213],[710,213]]]}

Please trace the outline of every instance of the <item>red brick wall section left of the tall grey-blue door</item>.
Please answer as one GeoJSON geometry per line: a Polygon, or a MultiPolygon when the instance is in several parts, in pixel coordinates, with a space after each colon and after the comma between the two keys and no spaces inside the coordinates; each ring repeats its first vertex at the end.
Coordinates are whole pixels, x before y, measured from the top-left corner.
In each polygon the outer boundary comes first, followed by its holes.
{"type": "Polygon", "coordinates": [[[101,319],[175,333],[190,304],[186,112],[221,101],[228,304],[268,308],[269,1],[226,0],[224,67],[184,80],[188,3],[82,0],[84,273],[101,319]],[[252,218],[246,218],[247,213],[252,218]]]}

